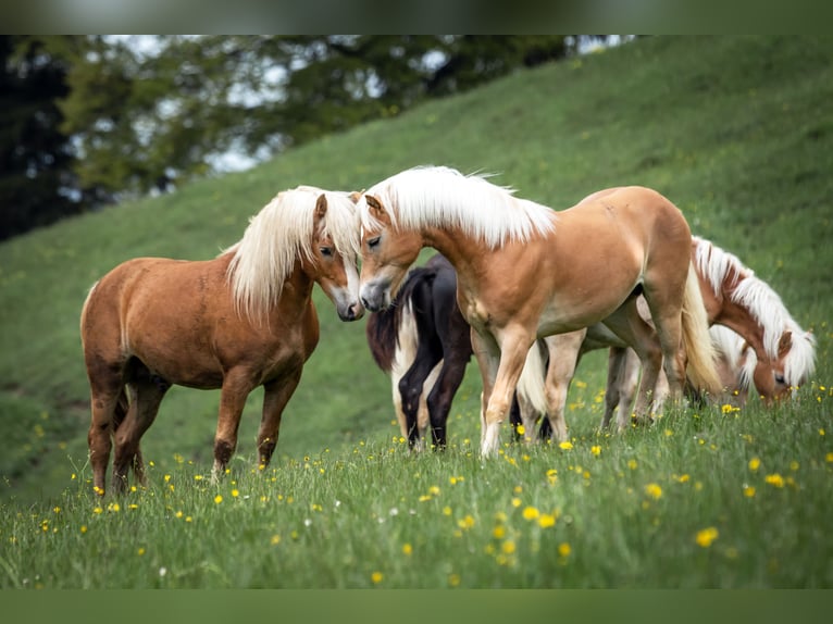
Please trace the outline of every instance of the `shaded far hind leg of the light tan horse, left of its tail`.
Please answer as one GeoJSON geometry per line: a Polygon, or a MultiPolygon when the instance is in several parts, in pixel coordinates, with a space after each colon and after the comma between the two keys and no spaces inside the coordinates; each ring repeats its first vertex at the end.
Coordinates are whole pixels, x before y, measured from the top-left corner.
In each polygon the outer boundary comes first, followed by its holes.
{"type": "MultiPolygon", "coordinates": [[[[654,390],[657,385],[657,376],[662,365],[662,349],[654,328],[648,325],[636,309],[636,298],[625,301],[616,312],[605,319],[602,323],[613,334],[619,336],[626,345],[630,345],[642,363],[642,380],[636,396],[634,413],[637,421],[649,421],[649,412],[654,399],[654,390]]],[[[626,428],[626,422],[617,423],[619,430],[626,428]]]]}

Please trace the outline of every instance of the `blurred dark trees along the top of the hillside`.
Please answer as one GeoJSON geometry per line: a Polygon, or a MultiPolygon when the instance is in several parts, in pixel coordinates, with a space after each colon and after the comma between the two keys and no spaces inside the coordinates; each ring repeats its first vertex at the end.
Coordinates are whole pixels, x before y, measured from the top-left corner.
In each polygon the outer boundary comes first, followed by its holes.
{"type": "MultiPolygon", "coordinates": [[[[604,37],[598,37],[604,38],[604,37]]],[[[574,53],[579,36],[0,36],[0,240],[574,53]]]]}

